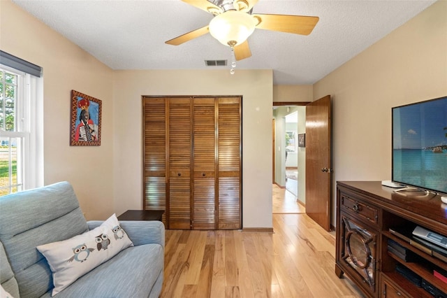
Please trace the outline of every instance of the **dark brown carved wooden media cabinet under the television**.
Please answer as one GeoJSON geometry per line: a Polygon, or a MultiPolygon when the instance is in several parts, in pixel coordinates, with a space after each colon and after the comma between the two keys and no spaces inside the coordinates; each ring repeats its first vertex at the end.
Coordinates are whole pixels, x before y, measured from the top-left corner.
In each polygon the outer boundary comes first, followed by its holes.
{"type": "Polygon", "coordinates": [[[436,291],[435,297],[447,297],[447,283],[434,276],[447,269],[447,257],[416,246],[416,226],[447,236],[447,204],[439,195],[395,193],[380,181],[338,181],[335,273],[367,297],[433,297],[436,291]],[[405,229],[409,234],[395,233],[405,229]],[[391,244],[411,258],[393,253],[391,244]]]}

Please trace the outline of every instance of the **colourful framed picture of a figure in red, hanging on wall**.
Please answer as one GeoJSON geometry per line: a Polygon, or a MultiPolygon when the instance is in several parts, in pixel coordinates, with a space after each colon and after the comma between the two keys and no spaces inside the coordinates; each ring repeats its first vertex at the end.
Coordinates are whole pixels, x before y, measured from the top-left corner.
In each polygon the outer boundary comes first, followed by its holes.
{"type": "Polygon", "coordinates": [[[101,101],[71,90],[71,146],[101,146],[101,101]]]}

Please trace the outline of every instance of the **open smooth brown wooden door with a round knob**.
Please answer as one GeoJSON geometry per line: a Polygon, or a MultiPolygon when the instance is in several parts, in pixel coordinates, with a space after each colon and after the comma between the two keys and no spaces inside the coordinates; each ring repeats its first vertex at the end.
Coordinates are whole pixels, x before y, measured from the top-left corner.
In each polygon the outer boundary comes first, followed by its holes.
{"type": "Polygon", "coordinates": [[[330,95],[306,106],[306,213],[330,230],[331,204],[330,95]]]}

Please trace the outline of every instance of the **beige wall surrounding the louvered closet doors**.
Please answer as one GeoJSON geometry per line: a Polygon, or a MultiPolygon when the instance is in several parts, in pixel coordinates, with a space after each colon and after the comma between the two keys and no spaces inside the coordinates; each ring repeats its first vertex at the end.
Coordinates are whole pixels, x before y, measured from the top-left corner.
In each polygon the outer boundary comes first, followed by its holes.
{"type": "Polygon", "coordinates": [[[242,223],[272,227],[272,71],[115,71],[115,210],[142,207],[142,95],[242,95],[242,223]]]}

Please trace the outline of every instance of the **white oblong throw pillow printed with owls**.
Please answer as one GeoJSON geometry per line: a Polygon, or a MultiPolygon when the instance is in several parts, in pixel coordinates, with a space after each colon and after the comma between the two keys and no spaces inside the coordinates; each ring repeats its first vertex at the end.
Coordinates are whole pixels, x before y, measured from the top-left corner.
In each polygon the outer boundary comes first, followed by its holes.
{"type": "Polygon", "coordinates": [[[117,215],[113,214],[96,229],[71,239],[38,246],[37,249],[50,265],[54,296],[129,246],[133,243],[119,225],[117,215]]]}

